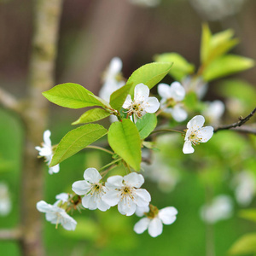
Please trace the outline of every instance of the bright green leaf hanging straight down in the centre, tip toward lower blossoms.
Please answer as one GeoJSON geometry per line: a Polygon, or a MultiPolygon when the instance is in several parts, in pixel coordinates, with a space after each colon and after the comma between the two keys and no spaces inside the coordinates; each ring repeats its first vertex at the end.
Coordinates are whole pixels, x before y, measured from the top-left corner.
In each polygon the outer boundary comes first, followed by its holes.
{"type": "Polygon", "coordinates": [[[134,170],[139,171],[142,161],[141,139],[130,119],[114,122],[108,130],[108,143],[116,154],[134,170]]]}

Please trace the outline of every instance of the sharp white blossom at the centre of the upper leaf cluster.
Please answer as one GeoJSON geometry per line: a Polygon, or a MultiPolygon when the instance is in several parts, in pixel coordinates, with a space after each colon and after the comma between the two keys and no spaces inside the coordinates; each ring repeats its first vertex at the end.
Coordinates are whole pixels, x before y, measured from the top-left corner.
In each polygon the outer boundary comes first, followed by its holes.
{"type": "Polygon", "coordinates": [[[149,97],[149,89],[145,84],[137,84],[134,89],[134,100],[128,95],[123,108],[128,109],[128,114],[136,114],[141,118],[145,113],[155,113],[160,107],[156,97],[149,97]]]}

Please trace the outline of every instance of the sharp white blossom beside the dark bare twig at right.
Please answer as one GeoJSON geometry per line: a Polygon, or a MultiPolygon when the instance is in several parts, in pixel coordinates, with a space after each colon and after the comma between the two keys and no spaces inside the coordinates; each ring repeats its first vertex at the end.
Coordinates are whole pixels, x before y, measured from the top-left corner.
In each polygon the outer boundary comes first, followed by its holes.
{"type": "Polygon", "coordinates": [[[192,144],[196,145],[199,143],[207,143],[207,141],[212,137],[213,127],[202,127],[204,123],[204,117],[202,115],[196,115],[187,124],[188,130],[186,132],[185,143],[183,145],[184,154],[191,154],[195,151],[192,144]]]}

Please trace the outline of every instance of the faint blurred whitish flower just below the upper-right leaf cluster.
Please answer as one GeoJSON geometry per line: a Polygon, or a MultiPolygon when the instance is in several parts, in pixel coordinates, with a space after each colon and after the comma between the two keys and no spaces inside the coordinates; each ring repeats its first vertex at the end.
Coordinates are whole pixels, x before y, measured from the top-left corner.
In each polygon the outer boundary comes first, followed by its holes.
{"type": "Polygon", "coordinates": [[[208,84],[201,78],[194,79],[188,76],[183,79],[182,84],[187,93],[194,91],[199,99],[202,99],[208,90],[208,84]]]}

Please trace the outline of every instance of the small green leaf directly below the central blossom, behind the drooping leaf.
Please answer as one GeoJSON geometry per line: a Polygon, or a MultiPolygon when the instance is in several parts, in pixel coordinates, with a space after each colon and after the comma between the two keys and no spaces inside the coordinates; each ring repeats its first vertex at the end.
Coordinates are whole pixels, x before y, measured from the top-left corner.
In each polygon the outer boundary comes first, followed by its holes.
{"type": "Polygon", "coordinates": [[[148,137],[157,125],[155,113],[146,113],[141,119],[137,120],[136,126],[141,139],[148,137]]]}

